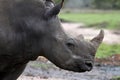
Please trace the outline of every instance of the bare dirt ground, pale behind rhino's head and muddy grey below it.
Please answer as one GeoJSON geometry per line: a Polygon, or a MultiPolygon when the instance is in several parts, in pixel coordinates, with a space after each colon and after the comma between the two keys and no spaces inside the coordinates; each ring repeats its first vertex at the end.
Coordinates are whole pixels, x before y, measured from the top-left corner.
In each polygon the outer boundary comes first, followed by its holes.
{"type": "MultiPolygon", "coordinates": [[[[86,39],[92,39],[100,31],[100,29],[85,28],[84,24],[80,23],[63,23],[62,25],[71,37],[83,34],[86,39]]],[[[119,31],[104,31],[105,43],[120,44],[119,31]]],[[[104,60],[96,59],[95,67],[90,72],[74,73],[61,70],[47,60],[40,60],[30,62],[18,80],[110,80],[113,76],[120,76],[119,65],[120,55],[119,57],[114,55],[104,60]]]]}

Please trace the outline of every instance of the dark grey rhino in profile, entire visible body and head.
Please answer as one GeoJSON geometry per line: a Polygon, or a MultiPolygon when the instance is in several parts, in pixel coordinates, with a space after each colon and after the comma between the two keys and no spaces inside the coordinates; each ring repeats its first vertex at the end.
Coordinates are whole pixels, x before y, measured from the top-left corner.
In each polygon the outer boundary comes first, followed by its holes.
{"type": "Polygon", "coordinates": [[[70,71],[92,69],[103,31],[90,42],[68,37],[57,17],[63,1],[0,0],[0,80],[16,80],[38,56],[70,71]]]}

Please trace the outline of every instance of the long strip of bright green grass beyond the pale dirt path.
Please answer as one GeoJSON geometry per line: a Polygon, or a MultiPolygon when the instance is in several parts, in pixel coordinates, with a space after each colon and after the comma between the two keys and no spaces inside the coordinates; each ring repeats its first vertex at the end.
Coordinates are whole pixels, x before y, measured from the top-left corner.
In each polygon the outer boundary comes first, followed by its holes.
{"type": "Polygon", "coordinates": [[[120,12],[108,13],[61,13],[60,18],[80,22],[86,24],[88,27],[105,27],[108,29],[120,29],[120,12]]]}

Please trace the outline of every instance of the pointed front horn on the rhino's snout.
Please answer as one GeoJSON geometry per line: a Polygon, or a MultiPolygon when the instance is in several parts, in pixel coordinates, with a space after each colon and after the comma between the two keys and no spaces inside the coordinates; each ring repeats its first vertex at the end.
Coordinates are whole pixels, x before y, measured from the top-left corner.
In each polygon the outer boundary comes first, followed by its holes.
{"type": "Polygon", "coordinates": [[[104,31],[101,30],[100,33],[98,34],[98,36],[94,37],[91,42],[93,43],[93,45],[95,46],[95,48],[98,48],[99,45],[101,44],[101,42],[103,41],[104,38],[104,31]]]}

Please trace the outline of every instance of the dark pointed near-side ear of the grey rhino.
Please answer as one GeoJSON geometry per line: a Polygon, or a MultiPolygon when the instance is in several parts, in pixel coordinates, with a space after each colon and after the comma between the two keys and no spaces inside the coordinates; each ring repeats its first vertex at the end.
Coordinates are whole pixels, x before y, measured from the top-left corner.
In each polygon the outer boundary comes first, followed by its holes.
{"type": "Polygon", "coordinates": [[[61,1],[61,3],[57,4],[51,9],[48,9],[45,13],[45,17],[53,17],[59,14],[62,6],[63,6],[64,0],[61,1]]]}

